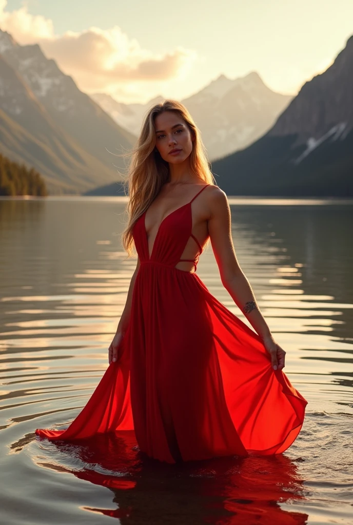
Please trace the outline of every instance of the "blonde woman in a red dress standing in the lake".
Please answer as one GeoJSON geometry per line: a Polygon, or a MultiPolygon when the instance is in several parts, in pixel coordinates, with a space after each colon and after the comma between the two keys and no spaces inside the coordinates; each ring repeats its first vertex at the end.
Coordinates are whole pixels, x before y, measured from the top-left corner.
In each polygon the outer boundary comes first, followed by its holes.
{"type": "Polygon", "coordinates": [[[134,430],[141,451],[174,463],[278,454],[302,428],[307,401],[283,372],[238,265],[226,195],[213,184],[200,132],[166,100],[148,112],[129,173],[128,254],[138,254],[109,366],[87,405],[50,439],[134,430]],[[223,286],[254,330],[195,273],[211,240],[223,286]]]}

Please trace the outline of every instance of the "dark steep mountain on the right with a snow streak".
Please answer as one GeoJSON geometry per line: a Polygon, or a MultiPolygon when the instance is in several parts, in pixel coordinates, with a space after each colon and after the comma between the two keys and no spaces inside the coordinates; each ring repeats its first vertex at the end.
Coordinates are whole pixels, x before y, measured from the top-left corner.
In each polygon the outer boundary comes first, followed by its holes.
{"type": "Polygon", "coordinates": [[[353,37],[264,137],[212,164],[230,195],[353,196],[353,37]]]}

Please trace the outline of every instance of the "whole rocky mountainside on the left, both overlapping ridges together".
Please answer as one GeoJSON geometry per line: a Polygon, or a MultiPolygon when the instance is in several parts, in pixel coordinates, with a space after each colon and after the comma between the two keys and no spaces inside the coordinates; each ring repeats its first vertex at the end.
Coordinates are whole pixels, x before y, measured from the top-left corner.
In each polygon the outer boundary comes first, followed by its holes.
{"type": "Polygon", "coordinates": [[[136,138],[120,128],[38,45],[0,30],[0,151],[34,166],[50,192],[77,193],[117,179],[112,153],[136,138]]]}

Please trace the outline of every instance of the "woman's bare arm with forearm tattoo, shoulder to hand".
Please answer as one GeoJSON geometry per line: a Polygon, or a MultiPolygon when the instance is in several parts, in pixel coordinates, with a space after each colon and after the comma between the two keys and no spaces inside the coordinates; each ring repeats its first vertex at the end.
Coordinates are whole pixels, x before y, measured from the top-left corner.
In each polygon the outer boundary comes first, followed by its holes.
{"type": "Polygon", "coordinates": [[[258,308],[250,282],[236,258],[232,239],[231,210],[227,196],[220,188],[215,187],[215,190],[209,193],[208,204],[210,216],[207,225],[222,284],[261,337],[266,350],[271,355],[274,370],[282,370],[285,366],[286,352],[274,340],[258,308]]]}

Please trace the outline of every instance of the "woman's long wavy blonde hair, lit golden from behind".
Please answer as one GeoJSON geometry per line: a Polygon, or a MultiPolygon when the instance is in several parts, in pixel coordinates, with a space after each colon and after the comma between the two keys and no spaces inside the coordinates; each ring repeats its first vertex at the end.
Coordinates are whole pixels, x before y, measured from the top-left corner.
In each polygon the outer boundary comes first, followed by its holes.
{"type": "MultiPolygon", "coordinates": [[[[128,169],[127,186],[129,202],[127,212],[129,220],[121,234],[122,245],[128,256],[132,255],[132,229],[137,220],[147,210],[159,194],[163,184],[169,181],[169,164],[161,158],[155,149],[155,118],[164,111],[175,111],[188,124],[193,135],[193,148],[190,154],[191,172],[206,184],[216,184],[207,159],[206,149],[201,140],[201,133],[189,111],[177,100],[164,100],[155,104],[144,118],[136,147],[130,150],[131,162],[128,169]]],[[[125,156],[123,154],[122,156],[125,156]]]]}

